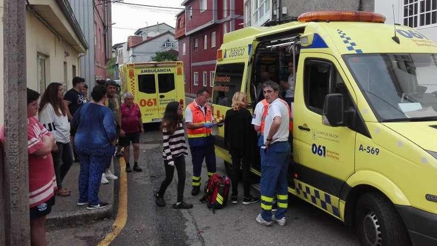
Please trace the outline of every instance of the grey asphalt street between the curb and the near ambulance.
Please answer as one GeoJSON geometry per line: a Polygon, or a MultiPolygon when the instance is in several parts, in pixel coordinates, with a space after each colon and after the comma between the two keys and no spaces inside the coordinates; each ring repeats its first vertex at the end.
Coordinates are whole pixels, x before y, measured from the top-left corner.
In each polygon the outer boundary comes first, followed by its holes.
{"type": "MultiPolygon", "coordinates": [[[[272,227],[258,225],[255,217],[260,211],[259,203],[229,203],[226,208],[216,210],[213,214],[206,204],[199,201],[202,192],[195,197],[191,196],[190,157],[186,159],[185,201],[193,203],[194,208],[171,208],[176,199],[176,174],[165,193],[167,205],[157,207],[153,194],[159,188],[164,174],[161,133],[157,125],[149,126],[141,143],[140,164],[143,172],[127,174],[127,222],[111,245],[358,245],[352,228],[292,196],[287,213],[288,224],[285,227],[277,224],[272,227]]],[[[119,162],[115,163],[116,174],[120,176],[119,162]]],[[[218,160],[217,163],[218,172],[224,173],[223,162],[218,160]]],[[[202,171],[202,180],[207,180],[206,167],[202,171]]],[[[120,182],[116,181],[116,194],[120,182]]],[[[252,193],[259,196],[255,189],[252,193]]],[[[112,232],[115,218],[116,215],[111,220],[94,224],[51,229],[48,232],[49,245],[97,245],[112,232]]]]}

